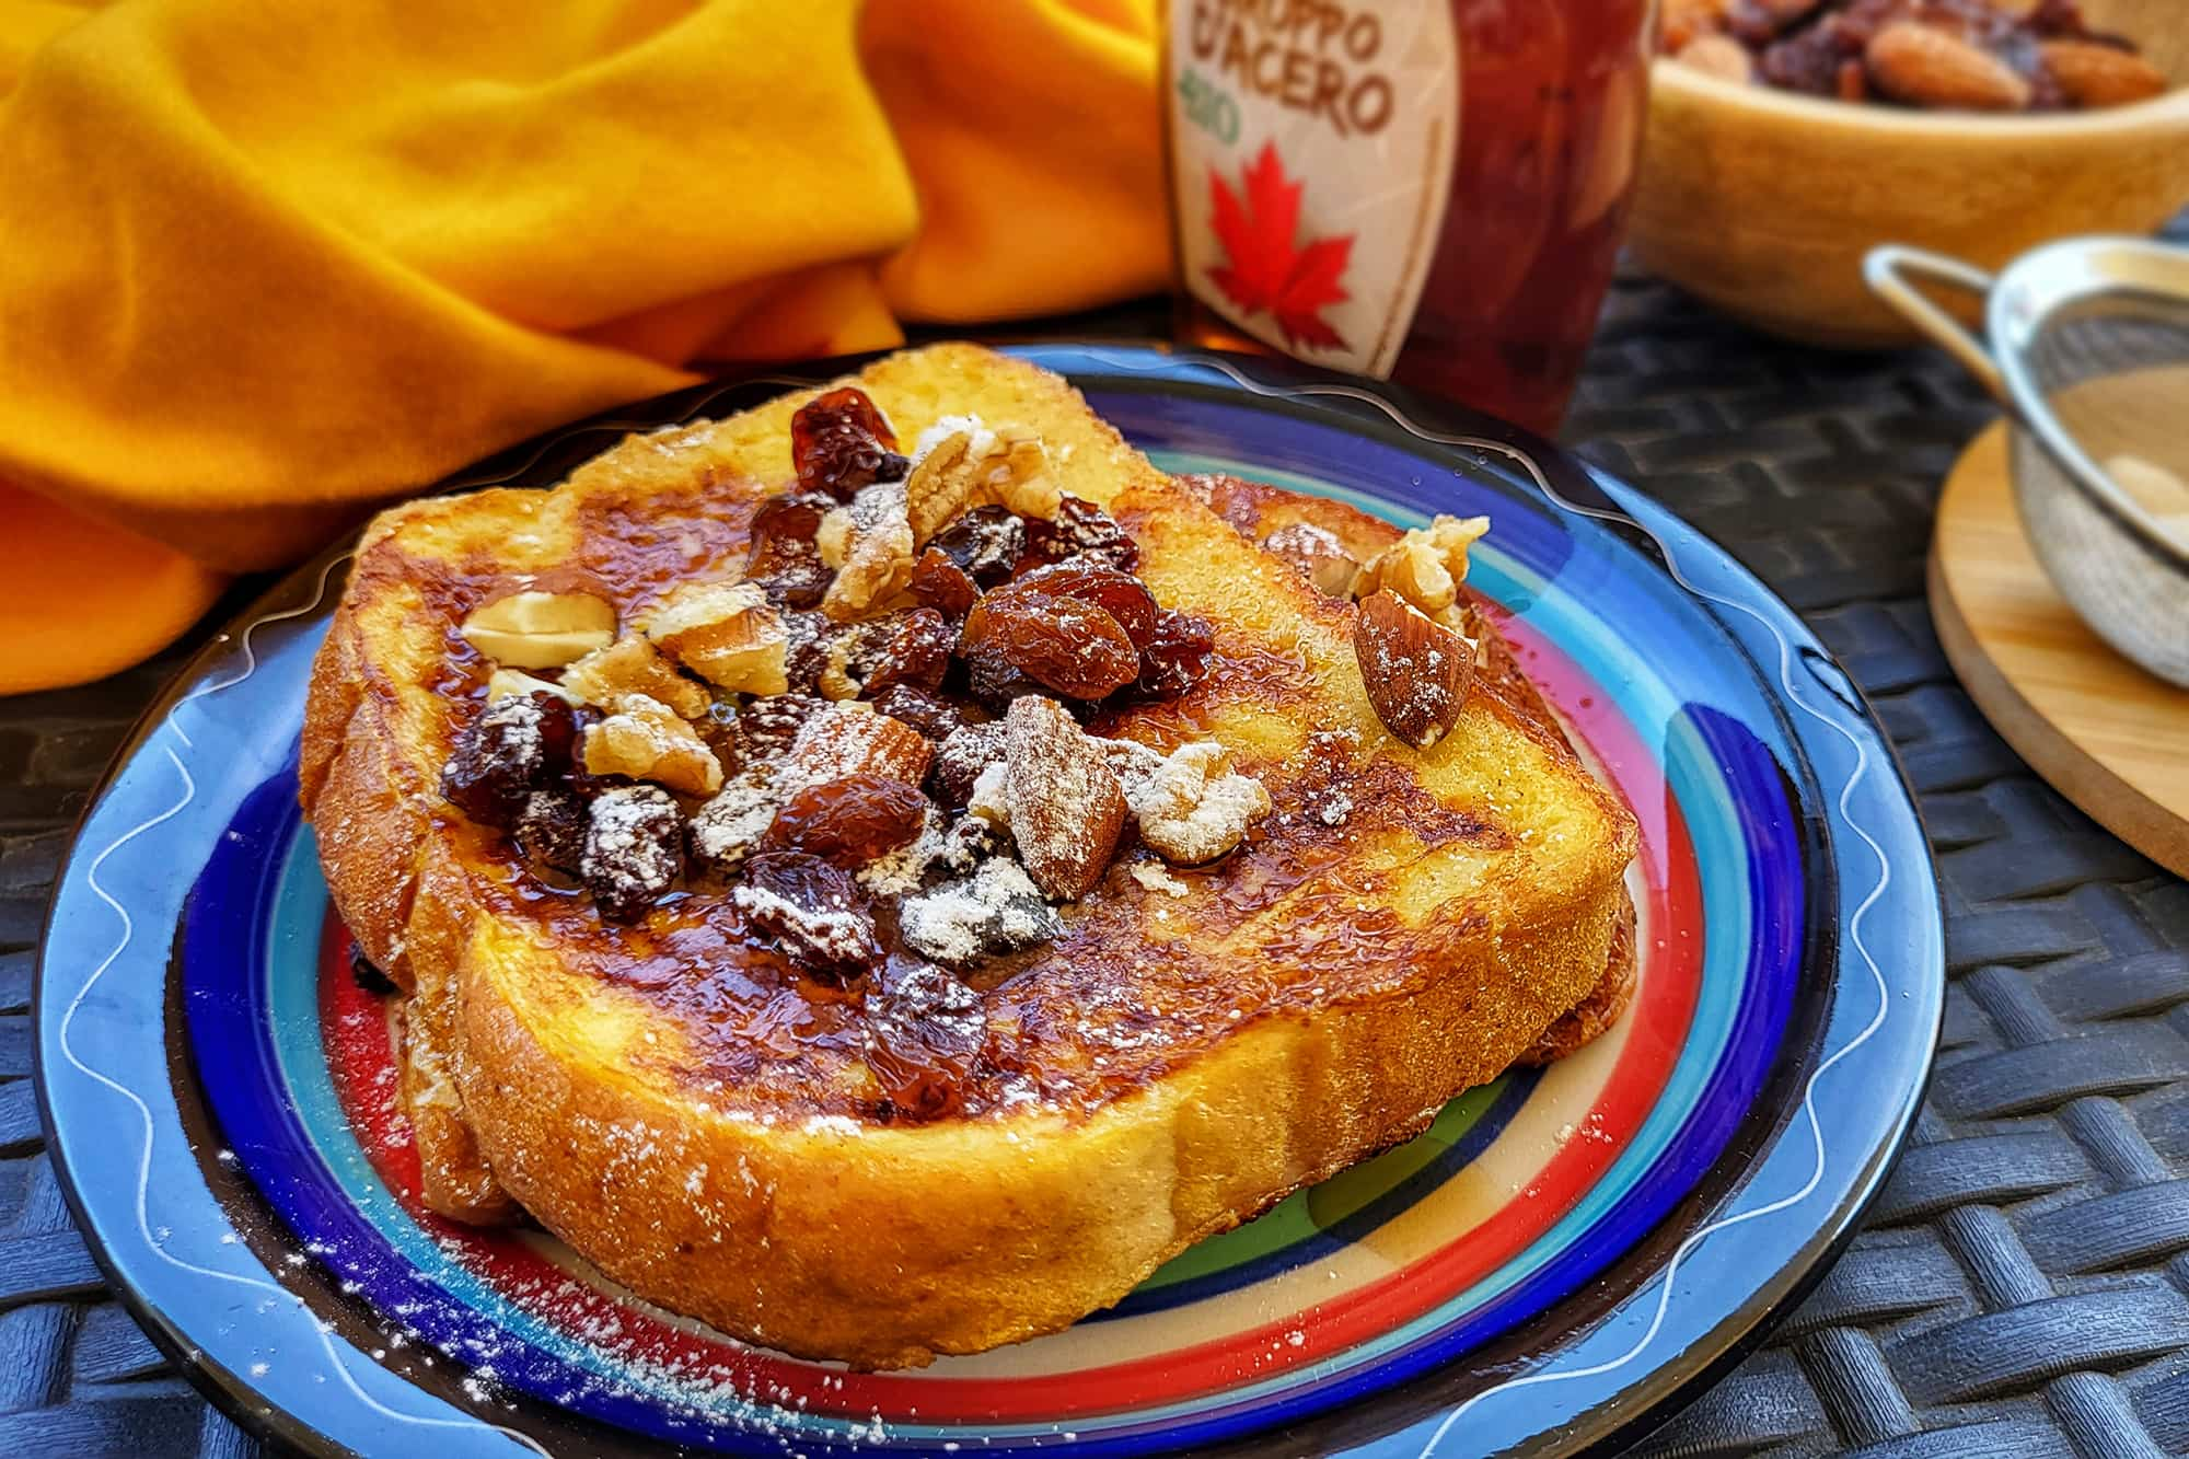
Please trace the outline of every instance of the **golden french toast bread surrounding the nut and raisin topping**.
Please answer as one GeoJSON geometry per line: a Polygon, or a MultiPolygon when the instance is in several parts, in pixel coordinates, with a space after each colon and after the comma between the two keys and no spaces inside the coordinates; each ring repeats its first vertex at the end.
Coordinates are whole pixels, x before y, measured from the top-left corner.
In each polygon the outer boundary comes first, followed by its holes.
{"type": "Polygon", "coordinates": [[[606,922],[440,793],[484,694],[466,613],[582,581],[628,620],[733,576],[808,394],[633,436],[549,493],[383,513],[315,666],[302,804],[337,909],[438,1034],[442,1209],[493,1218],[506,1192],[648,1299],[900,1367],[1064,1328],[1528,1054],[1613,962],[1635,830],[1508,694],[1471,694],[1427,751],[1394,740],[1353,607],[1062,379],[933,346],[856,383],[906,436],[961,414],[1038,432],[1156,598],[1215,624],[1206,679],[1092,727],[1219,740],[1274,802],[1206,870],[1121,857],[1062,935],[968,975],[985,1052],[961,1108],[887,1117],[858,990],[790,973],[725,898],[606,922]]]}

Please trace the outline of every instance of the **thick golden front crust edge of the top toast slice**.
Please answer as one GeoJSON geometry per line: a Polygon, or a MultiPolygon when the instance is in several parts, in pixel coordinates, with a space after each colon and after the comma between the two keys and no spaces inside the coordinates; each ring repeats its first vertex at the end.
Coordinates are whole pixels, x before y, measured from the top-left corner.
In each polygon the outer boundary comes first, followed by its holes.
{"type": "Polygon", "coordinates": [[[1589,990],[1622,898],[1545,909],[1495,949],[1453,927],[1405,1001],[1254,1021],[1084,1117],[1007,1124],[768,1128],[574,1078],[488,944],[464,981],[464,1095],[495,1174],[617,1282],[797,1356],[922,1365],[1066,1328],[1421,1133],[1589,990]]]}

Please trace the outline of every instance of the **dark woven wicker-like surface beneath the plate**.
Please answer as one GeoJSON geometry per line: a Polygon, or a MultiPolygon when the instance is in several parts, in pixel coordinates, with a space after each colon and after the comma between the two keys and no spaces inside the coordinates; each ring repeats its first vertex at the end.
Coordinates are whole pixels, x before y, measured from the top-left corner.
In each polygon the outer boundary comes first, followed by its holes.
{"type": "MultiPolygon", "coordinates": [[[[1841,655],[1946,889],[1953,986],[1915,1144],[1815,1297],[1644,1441],[1653,1459],[2189,1452],[2189,885],[2036,780],[1931,635],[1937,486],[1992,414],[1942,359],[1771,344],[1622,278],[1565,429],[1841,655]]],[[[0,699],[0,1455],[260,1452],[101,1286],[28,1080],[33,944],[68,826],[184,657],[0,699]]]]}

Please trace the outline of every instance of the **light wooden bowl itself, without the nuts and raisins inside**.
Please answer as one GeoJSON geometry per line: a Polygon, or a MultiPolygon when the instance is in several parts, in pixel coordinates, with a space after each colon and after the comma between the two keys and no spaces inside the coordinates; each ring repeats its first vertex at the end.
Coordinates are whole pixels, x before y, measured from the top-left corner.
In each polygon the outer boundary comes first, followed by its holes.
{"type": "Polygon", "coordinates": [[[1918,333],[1863,287],[1874,243],[1999,269],[2082,232],[2152,232],[2189,204],[2182,0],[2084,0],[2176,90],[2106,112],[1983,116],[1651,74],[1629,241],[1651,272],[1756,329],[1843,348],[1918,333]]]}

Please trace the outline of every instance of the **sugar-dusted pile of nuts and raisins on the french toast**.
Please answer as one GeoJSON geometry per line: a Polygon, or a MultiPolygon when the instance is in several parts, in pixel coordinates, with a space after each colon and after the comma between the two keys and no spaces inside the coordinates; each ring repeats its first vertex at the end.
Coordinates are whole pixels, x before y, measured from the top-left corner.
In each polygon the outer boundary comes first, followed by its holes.
{"type": "MultiPolygon", "coordinates": [[[[1123,524],[1062,495],[1035,434],[946,416],[906,460],[841,388],[797,412],[792,460],[799,486],[753,513],[749,576],[672,585],[622,635],[584,591],[510,594],[464,624],[501,662],[442,789],[534,872],[578,876],[628,922],[690,865],[700,896],[729,883],[762,946],[873,977],[887,1003],[922,968],[961,988],[915,951],[965,966],[1059,935],[1049,903],[1103,881],[1136,813],[1173,861],[1224,854],[1267,813],[1215,745],[1165,758],[1079,727],[1184,694],[1215,640],[1136,576],[1123,524]]],[[[1329,556],[1327,532],[1292,537],[1329,556]]],[[[1464,572],[1464,541],[1416,537],[1464,572]]],[[[1134,874],[1186,889],[1151,861],[1134,874]]],[[[924,1027],[893,1045],[906,1069],[924,1027]]],[[[919,1080],[904,1089],[926,1100],[919,1080]]]]}

